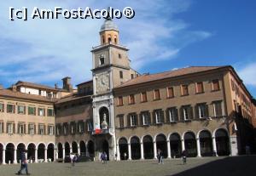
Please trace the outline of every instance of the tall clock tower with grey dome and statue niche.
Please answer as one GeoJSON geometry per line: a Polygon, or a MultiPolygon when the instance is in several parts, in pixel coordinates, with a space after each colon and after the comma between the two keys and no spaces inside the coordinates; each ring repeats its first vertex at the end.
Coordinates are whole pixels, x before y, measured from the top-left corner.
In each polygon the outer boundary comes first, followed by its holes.
{"type": "Polygon", "coordinates": [[[107,152],[110,160],[116,153],[116,139],[113,110],[113,88],[137,77],[130,67],[128,48],[119,44],[119,29],[108,18],[100,31],[101,44],[93,47],[93,132],[96,158],[100,152],[107,152]]]}

